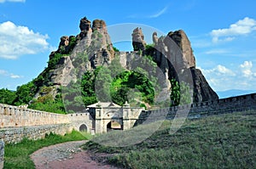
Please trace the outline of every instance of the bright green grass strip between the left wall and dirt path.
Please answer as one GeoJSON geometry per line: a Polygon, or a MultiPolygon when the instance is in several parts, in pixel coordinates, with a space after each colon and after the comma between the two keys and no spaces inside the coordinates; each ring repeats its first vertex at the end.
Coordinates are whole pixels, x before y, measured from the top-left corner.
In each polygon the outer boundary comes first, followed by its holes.
{"type": "Polygon", "coordinates": [[[90,138],[89,134],[73,131],[65,136],[50,133],[44,139],[28,140],[23,139],[19,144],[7,144],[4,154],[4,168],[35,168],[34,163],[30,159],[30,155],[43,147],[61,144],[68,141],[79,141],[90,138]]]}

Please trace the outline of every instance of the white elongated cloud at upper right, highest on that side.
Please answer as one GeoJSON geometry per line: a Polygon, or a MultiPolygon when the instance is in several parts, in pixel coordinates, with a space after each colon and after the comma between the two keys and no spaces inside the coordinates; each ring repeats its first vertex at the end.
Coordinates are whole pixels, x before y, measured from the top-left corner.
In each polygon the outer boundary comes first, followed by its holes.
{"type": "Polygon", "coordinates": [[[236,36],[247,35],[253,31],[256,31],[256,20],[246,17],[230,25],[229,28],[212,30],[212,42],[233,41],[236,36]]]}

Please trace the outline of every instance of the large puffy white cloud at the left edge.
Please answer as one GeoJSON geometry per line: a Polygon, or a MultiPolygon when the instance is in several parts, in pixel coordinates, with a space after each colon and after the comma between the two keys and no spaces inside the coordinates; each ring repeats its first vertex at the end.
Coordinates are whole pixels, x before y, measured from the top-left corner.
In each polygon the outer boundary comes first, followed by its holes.
{"type": "Polygon", "coordinates": [[[49,49],[48,35],[7,21],[0,24],[0,58],[17,59],[24,54],[38,54],[49,49]]]}

